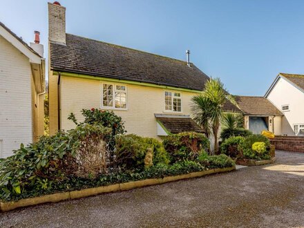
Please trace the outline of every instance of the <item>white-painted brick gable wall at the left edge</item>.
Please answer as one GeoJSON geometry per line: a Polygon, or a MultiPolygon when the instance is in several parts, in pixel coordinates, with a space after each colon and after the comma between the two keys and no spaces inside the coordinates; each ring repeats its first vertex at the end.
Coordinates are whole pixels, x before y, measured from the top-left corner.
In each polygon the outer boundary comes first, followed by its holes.
{"type": "Polygon", "coordinates": [[[29,59],[0,36],[1,158],[32,142],[31,77],[29,59]]]}

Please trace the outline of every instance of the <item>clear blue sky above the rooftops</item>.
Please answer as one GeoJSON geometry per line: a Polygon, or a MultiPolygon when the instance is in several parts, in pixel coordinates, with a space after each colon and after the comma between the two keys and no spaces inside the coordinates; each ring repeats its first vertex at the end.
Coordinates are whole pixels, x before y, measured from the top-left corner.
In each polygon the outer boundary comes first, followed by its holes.
{"type": "MultiPolygon", "coordinates": [[[[279,72],[304,74],[304,1],[60,0],[66,32],[191,61],[235,95],[264,95],[279,72]]],[[[41,32],[43,0],[0,0],[0,21],[23,40],[41,32]]]]}

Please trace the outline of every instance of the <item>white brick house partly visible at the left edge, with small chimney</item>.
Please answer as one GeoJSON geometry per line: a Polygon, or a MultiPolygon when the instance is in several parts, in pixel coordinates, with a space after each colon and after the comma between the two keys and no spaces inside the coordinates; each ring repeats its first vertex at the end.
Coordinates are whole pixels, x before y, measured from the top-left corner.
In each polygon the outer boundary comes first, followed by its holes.
{"type": "Polygon", "coordinates": [[[44,134],[44,46],[26,44],[0,22],[0,158],[44,134]]]}

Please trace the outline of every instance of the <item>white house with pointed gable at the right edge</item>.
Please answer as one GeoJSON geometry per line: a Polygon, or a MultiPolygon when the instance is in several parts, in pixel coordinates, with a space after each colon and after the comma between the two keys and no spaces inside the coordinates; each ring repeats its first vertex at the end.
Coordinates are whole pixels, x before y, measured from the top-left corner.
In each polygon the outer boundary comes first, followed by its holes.
{"type": "Polygon", "coordinates": [[[304,75],[279,73],[265,97],[282,113],[282,135],[304,135],[304,75]]]}

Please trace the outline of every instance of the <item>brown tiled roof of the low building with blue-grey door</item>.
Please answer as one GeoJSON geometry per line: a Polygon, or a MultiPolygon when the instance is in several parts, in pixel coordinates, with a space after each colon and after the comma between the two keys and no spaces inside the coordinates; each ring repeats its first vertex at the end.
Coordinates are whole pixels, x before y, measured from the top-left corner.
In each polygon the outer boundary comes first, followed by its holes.
{"type": "Polygon", "coordinates": [[[283,115],[265,97],[234,96],[234,98],[245,115],[283,115]]]}

